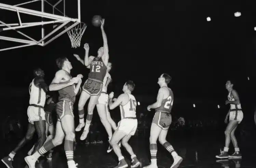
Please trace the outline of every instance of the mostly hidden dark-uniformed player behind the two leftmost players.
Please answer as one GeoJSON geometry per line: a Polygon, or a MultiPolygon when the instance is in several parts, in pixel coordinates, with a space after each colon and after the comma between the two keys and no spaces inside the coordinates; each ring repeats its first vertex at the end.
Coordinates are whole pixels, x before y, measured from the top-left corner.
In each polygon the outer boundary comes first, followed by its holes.
{"type": "MultiPolygon", "coordinates": [[[[53,97],[50,95],[46,95],[46,103],[44,106],[44,111],[45,111],[45,135],[46,135],[46,140],[45,142],[51,140],[54,137],[55,134],[55,129],[52,121],[52,112],[55,108],[55,100],[53,100],[53,97]],[[49,135],[50,133],[50,135],[49,135]]],[[[45,143],[44,142],[44,143],[45,143]]],[[[35,145],[30,149],[28,152],[28,155],[31,155],[33,150],[34,150],[35,145]]],[[[52,150],[49,151],[48,156],[46,157],[48,160],[52,159],[52,150]]]]}

